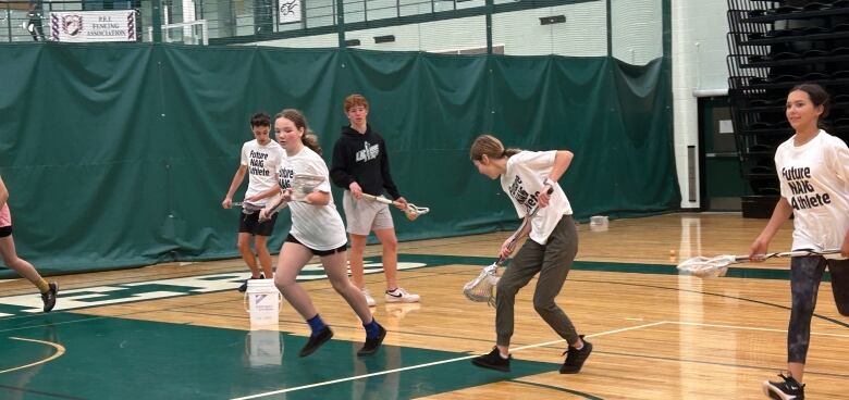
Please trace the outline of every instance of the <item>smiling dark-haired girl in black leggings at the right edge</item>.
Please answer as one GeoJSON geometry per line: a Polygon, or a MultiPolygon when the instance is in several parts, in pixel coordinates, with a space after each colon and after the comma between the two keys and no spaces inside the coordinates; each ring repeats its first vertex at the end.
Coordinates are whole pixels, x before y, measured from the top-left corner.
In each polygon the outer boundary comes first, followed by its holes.
{"type": "Polygon", "coordinates": [[[764,382],[773,399],[803,399],[804,362],[811,338],[811,317],[823,272],[828,266],[837,310],[849,315],[849,149],[821,128],[828,113],[828,93],[819,85],[802,84],[787,96],[786,115],[795,135],[775,151],[775,170],[782,197],[770,222],[749,250],[751,261],[762,261],[770,241],[793,215],[793,250],[823,252],[840,249],[842,260],[823,255],[790,260],[792,309],[787,332],[787,368],[783,380],[764,382]]]}

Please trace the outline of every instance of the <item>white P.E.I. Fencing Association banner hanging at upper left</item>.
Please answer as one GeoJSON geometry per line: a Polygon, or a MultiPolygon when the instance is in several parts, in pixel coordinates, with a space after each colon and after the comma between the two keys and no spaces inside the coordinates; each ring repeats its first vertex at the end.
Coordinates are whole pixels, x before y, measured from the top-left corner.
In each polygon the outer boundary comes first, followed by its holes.
{"type": "Polygon", "coordinates": [[[50,13],[56,41],[136,41],[135,10],[64,11],[50,13]]]}

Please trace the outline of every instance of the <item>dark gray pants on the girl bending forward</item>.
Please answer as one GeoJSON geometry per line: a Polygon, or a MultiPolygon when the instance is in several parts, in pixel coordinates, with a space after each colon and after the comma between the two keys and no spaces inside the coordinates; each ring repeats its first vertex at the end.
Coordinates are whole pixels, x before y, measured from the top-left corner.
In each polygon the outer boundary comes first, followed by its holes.
{"type": "Polygon", "coordinates": [[[533,291],[533,309],[549,326],[568,343],[578,341],[569,317],[554,303],[566,275],[578,253],[578,229],[571,215],[564,215],[549,236],[545,246],[525,241],[499,280],[495,292],[495,334],[497,345],[509,346],[513,336],[516,292],[528,285],[537,273],[540,278],[533,291]]]}

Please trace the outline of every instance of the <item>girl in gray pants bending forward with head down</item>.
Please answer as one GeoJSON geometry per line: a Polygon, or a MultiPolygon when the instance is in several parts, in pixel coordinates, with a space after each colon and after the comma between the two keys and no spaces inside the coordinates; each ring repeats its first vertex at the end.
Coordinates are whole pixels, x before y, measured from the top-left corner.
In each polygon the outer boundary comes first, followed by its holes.
{"type": "Polygon", "coordinates": [[[505,149],[495,137],[481,135],[471,145],[469,157],[478,172],[491,179],[501,178],[501,187],[509,196],[516,212],[520,217],[531,220],[501,247],[500,255],[506,259],[514,250],[515,239],[529,235],[496,286],[495,347],[489,354],[477,357],[471,362],[484,368],[509,371],[516,292],[539,273],[533,308],[568,343],[561,373],[580,372],[592,345],[578,335],[569,317],[554,302],[578,252],[578,233],[571,207],[557,184],[574,154],[565,150],[536,152],[505,149]],[[531,210],[539,211],[529,215],[531,210]]]}

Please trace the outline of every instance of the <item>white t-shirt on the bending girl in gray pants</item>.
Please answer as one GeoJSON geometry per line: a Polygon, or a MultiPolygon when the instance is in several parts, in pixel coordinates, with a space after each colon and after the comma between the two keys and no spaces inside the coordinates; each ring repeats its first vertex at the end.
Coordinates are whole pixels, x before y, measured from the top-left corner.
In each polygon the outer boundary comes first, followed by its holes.
{"type": "MultiPolygon", "coordinates": [[[[507,159],[507,171],[501,176],[501,188],[509,195],[513,207],[520,218],[524,218],[537,207],[537,199],[542,191],[545,178],[554,166],[556,150],[520,151],[507,159]]],[[[540,209],[531,220],[530,239],[545,245],[554,227],[563,215],[571,215],[571,205],[561,185],[554,186],[549,207],[540,209]]]]}

